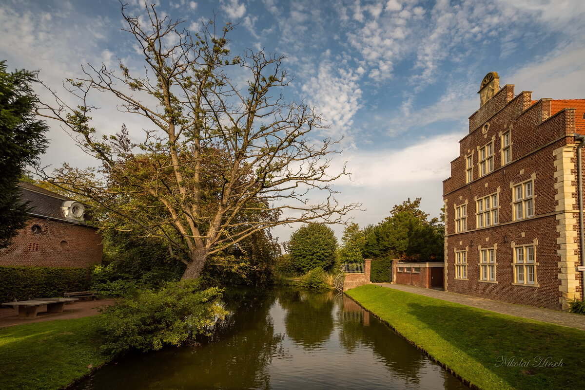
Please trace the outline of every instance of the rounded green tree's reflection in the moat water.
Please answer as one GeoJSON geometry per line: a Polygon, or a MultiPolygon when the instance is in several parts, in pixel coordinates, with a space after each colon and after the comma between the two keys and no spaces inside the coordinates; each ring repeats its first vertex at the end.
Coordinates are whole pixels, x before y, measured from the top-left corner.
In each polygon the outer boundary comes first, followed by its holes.
{"type": "Polygon", "coordinates": [[[317,349],[333,333],[333,293],[280,290],[278,302],[286,309],[284,326],[292,342],[303,349],[317,349]]]}

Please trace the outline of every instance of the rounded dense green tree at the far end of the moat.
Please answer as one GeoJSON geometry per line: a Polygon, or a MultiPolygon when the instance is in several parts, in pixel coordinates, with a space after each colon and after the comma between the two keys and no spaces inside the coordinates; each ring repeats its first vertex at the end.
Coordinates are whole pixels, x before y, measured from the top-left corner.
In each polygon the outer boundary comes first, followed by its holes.
{"type": "Polygon", "coordinates": [[[327,225],[304,225],[297,229],[288,242],[288,250],[298,273],[321,267],[331,270],[335,264],[337,239],[327,225]]]}

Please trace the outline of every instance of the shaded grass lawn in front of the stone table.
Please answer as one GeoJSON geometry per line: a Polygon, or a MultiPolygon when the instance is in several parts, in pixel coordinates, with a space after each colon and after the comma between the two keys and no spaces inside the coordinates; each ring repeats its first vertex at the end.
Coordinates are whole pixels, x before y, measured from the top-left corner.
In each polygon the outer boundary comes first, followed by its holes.
{"type": "Polygon", "coordinates": [[[0,329],[0,388],[59,389],[108,361],[92,339],[94,317],[0,329]]]}

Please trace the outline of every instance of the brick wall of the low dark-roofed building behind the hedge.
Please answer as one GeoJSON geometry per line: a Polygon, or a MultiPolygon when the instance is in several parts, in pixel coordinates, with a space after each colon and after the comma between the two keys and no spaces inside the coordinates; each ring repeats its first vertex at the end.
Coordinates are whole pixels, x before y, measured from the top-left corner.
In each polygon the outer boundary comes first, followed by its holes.
{"type": "Polygon", "coordinates": [[[91,267],[102,260],[97,229],[78,224],[33,217],[12,242],[0,249],[2,266],[91,267]],[[39,233],[33,233],[33,225],[39,233]]]}

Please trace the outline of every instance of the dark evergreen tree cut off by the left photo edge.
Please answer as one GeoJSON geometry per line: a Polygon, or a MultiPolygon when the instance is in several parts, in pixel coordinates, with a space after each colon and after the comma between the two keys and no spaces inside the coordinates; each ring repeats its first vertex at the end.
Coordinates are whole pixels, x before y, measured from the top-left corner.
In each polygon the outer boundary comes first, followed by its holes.
{"type": "Polygon", "coordinates": [[[20,199],[18,182],[47,147],[47,126],[36,120],[38,101],[31,88],[36,74],[6,72],[5,61],[0,61],[0,248],[25,227],[29,207],[20,199]]]}

